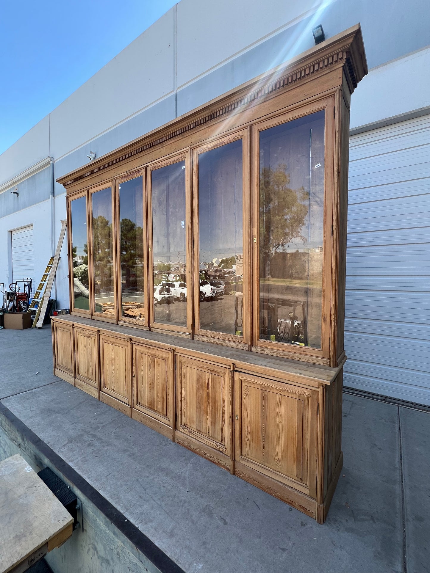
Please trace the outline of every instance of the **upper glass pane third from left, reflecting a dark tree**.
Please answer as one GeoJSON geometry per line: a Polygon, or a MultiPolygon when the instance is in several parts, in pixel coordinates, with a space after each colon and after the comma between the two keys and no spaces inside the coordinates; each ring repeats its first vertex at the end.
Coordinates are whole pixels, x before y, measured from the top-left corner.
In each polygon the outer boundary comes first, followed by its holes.
{"type": "Polygon", "coordinates": [[[121,314],[144,319],[143,299],[143,179],[136,177],[119,186],[121,242],[121,314]]]}

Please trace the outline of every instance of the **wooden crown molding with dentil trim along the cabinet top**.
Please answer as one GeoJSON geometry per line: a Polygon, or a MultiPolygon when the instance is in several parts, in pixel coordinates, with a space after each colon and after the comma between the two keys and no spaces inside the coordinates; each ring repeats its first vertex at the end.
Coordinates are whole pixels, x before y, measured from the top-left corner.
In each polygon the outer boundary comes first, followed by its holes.
{"type": "Polygon", "coordinates": [[[143,137],[101,156],[91,162],[90,165],[87,164],[61,176],[57,182],[68,187],[123,160],[130,159],[159,144],[177,138],[192,129],[229,115],[238,108],[251,107],[251,105],[259,103],[260,100],[271,97],[275,92],[288,89],[292,84],[300,83],[300,81],[334,66],[343,67],[351,93],[362,77],[368,73],[359,24],[299,54],[286,64],[277,66],[209,103],[154,129],[143,137]]]}

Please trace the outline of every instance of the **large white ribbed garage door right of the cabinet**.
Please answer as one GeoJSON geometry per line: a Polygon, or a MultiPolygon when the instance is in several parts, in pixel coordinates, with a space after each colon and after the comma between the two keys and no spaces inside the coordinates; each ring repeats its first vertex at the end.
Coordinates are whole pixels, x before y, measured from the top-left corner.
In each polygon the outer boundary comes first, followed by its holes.
{"type": "Polygon", "coordinates": [[[345,386],[430,405],[430,116],[350,139],[345,386]]]}

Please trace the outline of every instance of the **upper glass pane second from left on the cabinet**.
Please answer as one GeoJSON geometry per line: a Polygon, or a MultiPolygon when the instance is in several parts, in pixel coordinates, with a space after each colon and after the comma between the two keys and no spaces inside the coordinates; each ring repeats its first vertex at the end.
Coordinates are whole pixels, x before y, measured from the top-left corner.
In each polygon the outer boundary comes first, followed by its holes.
{"type": "Polygon", "coordinates": [[[92,200],[95,311],[115,316],[114,248],[112,245],[111,188],[96,191],[92,200]]]}

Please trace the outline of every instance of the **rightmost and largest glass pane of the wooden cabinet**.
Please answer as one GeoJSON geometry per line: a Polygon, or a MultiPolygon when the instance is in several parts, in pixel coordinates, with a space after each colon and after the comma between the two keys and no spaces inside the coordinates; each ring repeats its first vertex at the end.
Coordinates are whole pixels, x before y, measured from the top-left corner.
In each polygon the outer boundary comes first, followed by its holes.
{"type": "Polygon", "coordinates": [[[324,112],[260,132],[260,338],[321,347],[324,112]]]}

